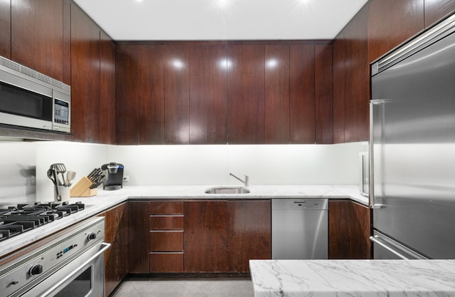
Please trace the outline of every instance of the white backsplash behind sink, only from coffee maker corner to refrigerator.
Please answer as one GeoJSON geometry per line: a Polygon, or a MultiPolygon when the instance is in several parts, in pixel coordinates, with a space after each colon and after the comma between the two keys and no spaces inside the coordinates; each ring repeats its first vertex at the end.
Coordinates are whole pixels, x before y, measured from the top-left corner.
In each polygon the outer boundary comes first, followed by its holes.
{"type": "Polygon", "coordinates": [[[339,145],[135,145],[108,146],[129,185],[357,184],[358,153],[365,142],[339,145]]]}

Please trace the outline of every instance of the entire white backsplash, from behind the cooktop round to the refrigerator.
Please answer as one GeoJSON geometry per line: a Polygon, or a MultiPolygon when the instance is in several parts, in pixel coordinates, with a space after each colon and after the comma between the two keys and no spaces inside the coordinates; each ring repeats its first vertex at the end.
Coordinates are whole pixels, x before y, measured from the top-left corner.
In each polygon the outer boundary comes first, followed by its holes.
{"type": "Polygon", "coordinates": [[[53,200],[47,170],[76,172],[75,182],[107,162],[124,165],[125,185],[357,184],[366,142],[338,145],[99,145],[80,142],[0,142],[0,204],[53,200]],[[34,179],[21,169],[36,167],[34,179]],[[23,173],[23,171],[22,171],[23,173]],[[35,182],[35,184],[33,184],[35,182]],[[36,189],[35,189],[36,187],[36,189]],[[36,193],[36,195],[35,195],[36,193]],[[11,202],[12,201],[12,202],[11,202]]]}

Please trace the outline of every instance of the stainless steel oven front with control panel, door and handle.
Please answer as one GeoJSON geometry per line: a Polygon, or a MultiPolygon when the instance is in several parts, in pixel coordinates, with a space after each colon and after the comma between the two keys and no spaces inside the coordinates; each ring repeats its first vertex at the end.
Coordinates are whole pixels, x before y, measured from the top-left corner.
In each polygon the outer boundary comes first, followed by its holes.
{"type": "Polygon", "coordinates": [[[2,296],[104,297],[104,240],[96,217],[12,254],[0,266],[2,296]]]}

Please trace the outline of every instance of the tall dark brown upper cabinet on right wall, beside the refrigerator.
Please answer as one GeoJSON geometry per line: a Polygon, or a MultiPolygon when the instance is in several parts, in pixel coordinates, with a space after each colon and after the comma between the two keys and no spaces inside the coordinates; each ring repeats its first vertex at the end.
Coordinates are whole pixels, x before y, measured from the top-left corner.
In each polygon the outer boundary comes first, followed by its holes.
{"type": "Polygon", "coordinates": [[[368,140],[368,5],[333,41],[333,142],[368,140]]]}

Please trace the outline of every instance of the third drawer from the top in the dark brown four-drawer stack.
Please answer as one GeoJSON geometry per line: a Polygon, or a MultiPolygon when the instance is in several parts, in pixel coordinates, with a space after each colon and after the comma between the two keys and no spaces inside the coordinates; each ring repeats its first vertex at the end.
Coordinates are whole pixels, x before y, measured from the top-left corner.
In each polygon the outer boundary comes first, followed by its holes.
{"type": "Polygon", "coordinates": [[[150,251],[183,251],[183,231],[151,231],[150,251]]]}

